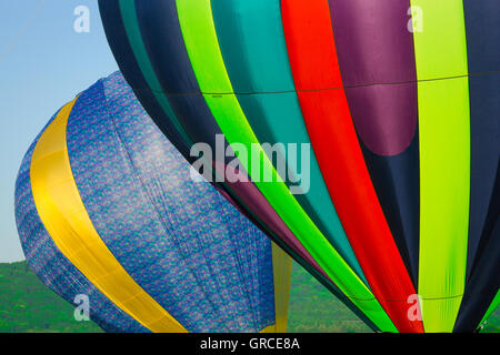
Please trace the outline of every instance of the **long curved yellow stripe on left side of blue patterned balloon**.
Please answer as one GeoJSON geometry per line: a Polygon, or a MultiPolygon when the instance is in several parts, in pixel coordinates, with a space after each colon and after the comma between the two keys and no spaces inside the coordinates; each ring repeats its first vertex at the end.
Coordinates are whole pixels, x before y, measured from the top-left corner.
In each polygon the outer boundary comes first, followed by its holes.
{"type": "Polygon", "coordinates": [[[31,189],[40,219],[61,253],[112,303],[158,333],[186,333],[121,266],[96,231],[71,171],[66,131],[78,98],[40,136],[31,159],[31,189]]]}

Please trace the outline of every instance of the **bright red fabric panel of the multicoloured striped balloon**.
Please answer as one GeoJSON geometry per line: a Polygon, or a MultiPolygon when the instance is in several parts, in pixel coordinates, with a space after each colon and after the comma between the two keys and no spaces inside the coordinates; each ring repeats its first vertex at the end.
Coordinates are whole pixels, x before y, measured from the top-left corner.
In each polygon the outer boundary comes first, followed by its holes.
{"type": "Polygon", "coordinates": [[[306,124],[340,221],[394,325],[419,332],[421,324],[407,316],[408,297],[417,292],[378,202],[342,89],[328,1],[283,1],[282,12],[306,124]]]}

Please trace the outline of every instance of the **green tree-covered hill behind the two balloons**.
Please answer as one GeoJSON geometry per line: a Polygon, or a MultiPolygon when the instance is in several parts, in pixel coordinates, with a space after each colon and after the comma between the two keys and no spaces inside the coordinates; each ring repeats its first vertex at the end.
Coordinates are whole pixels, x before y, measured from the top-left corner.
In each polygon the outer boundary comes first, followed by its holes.
{"type": "MultiPolygon", "coordinates": [[[[371,332],[302,267],[294,264],[290,294],[289,332],[371,332]]],[[[0,264],[0,333],[102,332],[92,322],[76,322],[73,306],[46,287],[28,263],[0,264]]],[[[484,331],[500,333],[500,311],[484,331]]]]}

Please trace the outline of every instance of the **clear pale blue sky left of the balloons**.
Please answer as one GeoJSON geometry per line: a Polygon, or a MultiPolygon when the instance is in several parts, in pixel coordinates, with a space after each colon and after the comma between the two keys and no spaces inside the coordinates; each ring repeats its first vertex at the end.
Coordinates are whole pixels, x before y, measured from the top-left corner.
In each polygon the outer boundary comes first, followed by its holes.
{"type": "Polygon", "coordinates": [[[60,106],[116,70],[97,0],[0,1],[0,262],[24,258],[13,191],[29,145],[60,106]],[[79,6],[90,32],[73,29],[79,6]]]}

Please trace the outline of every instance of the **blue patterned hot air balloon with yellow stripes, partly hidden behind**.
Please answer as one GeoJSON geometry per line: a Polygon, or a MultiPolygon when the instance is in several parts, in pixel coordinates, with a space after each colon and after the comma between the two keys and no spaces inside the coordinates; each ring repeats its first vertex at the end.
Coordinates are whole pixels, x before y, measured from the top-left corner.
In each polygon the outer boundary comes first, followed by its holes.
{"type": "Polygon", "coordinates": [[[286,331],[290,257],[191,180],[119,72],[36,139],[16,216],[32,270],[104,331],[286,331]]]}

